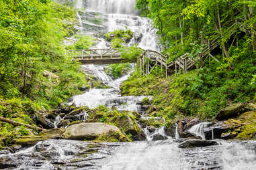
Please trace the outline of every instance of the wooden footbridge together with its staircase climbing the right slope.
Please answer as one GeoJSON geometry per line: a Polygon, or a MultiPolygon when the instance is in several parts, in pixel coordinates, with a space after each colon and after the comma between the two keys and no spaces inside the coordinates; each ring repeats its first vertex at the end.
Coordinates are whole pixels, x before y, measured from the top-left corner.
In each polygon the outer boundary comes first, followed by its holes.
{"type": "MultiPolygon", "coordinates": [[[[241,29],[241,25],[234,23],[228,31],[229,35],[233,35],[237,31],[237,26],[241,29]]],[[[188,53],[183,54],[173,62],[167,62],[168,56],[153,51],[144,50],[140,56],[140,76],[151,74],[151,71],[156,66],[161,66],[161,69],[165,69],[165,75],[168,76],[169,70],[175,70],[181,73],[186,73],[189,70],[196,68],[198,62],[205,62],[208,58],[214,59],[219,62],[210,52],[221,45],[221,38],[218,35],[212,35],[212,38],[208,39],[206,47],[201,53],[197,54],[198,59],[191,58],[188,53]],[[214,37],[214,38],[213,38],[214,37]],[[210,40],[212,39],[212,40],[210,40]]],[[[125,61],[121,58],[121,52],[118,49],[89,49],[89,50],[67,50],[67,55],[71,56],[73,60],[81,62],[81,64],[118,64],[125,61]]],[[[132,61],[136,62],[136,61],[132,61]]]]}

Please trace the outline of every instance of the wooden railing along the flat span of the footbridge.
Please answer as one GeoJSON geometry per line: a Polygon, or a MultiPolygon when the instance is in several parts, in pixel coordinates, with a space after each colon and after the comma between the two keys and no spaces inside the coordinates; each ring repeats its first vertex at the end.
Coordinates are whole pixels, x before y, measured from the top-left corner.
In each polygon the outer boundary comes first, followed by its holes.
{"type": "Polygon", "coordinates": [[[66,50],[66,55],[73,60],[103,60],[120,58],[121,54],[116,48],[66,50]]]}

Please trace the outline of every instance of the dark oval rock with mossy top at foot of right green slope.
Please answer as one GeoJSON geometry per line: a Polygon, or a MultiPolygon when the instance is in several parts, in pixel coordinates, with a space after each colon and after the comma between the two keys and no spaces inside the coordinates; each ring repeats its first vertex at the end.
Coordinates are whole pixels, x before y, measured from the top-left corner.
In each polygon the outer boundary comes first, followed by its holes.
{"type": "Polygon", "coordinates": [[[245,110],[245,104],[239,102],[220,110],[220,112],[218,112],[218,114],[216,115],[216,119],[224,120],[226,118],[232,118],[241,114],[243,110],[245,110]]]}

